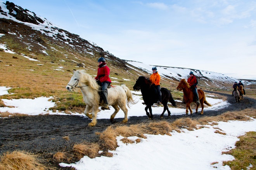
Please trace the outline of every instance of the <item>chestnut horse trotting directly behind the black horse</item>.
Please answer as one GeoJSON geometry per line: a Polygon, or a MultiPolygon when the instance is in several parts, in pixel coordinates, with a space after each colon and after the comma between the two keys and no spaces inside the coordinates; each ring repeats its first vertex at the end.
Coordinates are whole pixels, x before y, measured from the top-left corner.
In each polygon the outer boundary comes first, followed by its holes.
{"type": "MultiPolygon", "coordinates": [[[[176,89],[179,91],[183,90],[183,97],[184,97],[184,101],[186,102],[186,114],[189,113],[189,110],[190,110],[190,114],[192,114],[192,109],[191,109],[190,104],[192,102],[195,102],[194,93],[192,92],[192,89],[190,88],[187,80],[185,78],[180,80],[180,83],[176,89]]],[[[206,104],[208,106],[211,106],[211,104],[209,104],[206,101],[205,94],[201,89],[198,89],[197,92],[198,92],[198,97],[199,97],[201,107],[202,107],[201,114],[204,114],[204,104],[206,104]]],[[[199,107],[199,104],[196,105],[195,113],[197,113],[198,107],[199,107]]]]}

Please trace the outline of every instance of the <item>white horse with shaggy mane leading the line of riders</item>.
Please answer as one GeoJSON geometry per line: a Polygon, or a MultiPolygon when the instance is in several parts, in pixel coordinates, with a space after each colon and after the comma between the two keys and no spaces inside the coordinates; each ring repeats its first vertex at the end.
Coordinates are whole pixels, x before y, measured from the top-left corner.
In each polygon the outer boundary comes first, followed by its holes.
{"type": "MultiPolygon", "coordinates": [[[[99,112],[99,106],[103,106],[104,103],[100,103],[100,95],[99,95],[99,85],[96,83],[95,79],[90,75],[85,73],[85,70],[77,70],[73,71],[74,75],[71,77],[71,80],[67,84],[66,88],[69,91],[78,91],[80,88],[83,93],[83,100],[86,104],[86,108],[84,114],[92,119],[92,122],[88,124],[88,126],[95,126],[97,124],[97,113],[99,112]],[[89,114],[92,112],[92,114],[89,114]]],[[[130,107],[130,104],[135,104],[132,93],[126,85],[115,86],[107,89],[108,91],[108,102],[115,111],[110,117],[110,121],[114,122],[114,117],[117,112],[123,110],[125,113],[125,118],[123,122],[127,122],[127,113],[128,109],[126,108],[126,104],[130,107]],[[127,99],[127,100],[126,100],[127,99]]]]}

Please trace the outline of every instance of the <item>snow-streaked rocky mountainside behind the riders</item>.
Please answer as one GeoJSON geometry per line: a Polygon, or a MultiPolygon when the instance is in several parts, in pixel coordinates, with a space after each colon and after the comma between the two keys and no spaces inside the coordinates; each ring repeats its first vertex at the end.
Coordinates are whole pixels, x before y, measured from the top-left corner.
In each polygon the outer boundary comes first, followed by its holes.
{"type": "MultiPolygon", "coordinates": [[[[109,63],[123,70],[118,71],[119,74],[122,72],[130,73],[133,79],[138,75],[151,74],[152,68],[151,65],[137,61],[119,59],[95,43],[60,29],[47,19],[9,1],[0,3],[1,50],[30,58],[47,56],[52,60],[51,62],[65,59],[65,61],[83,68],[90,68],[90,63],[97,62],[97,58],[103,53],[109,63]],[[137,74],[131,73],[130,70],[137,72],[137,74]]],[[[157,68],[164,79],[173,82],[187,78],[190,71],[194,71],[201,85],[205,87],[221,87],[225,84],[230,86],[235,81],[239,81],[236,78],[211,71],[168,66],[157,66],[157,68]]],[[[244,83],[256,83],[256,81],[246,80],[244,83]]]]}

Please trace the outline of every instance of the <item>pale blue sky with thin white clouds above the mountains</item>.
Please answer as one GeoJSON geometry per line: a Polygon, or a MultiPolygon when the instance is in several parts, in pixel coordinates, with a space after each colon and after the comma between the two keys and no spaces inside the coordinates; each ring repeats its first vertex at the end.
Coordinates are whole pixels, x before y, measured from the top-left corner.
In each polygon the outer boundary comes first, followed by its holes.
{"type": "Polygon", "coordinates": [[[10,2],[121,59],[256,80],[255,0],[10,2]]]}

